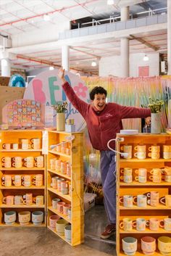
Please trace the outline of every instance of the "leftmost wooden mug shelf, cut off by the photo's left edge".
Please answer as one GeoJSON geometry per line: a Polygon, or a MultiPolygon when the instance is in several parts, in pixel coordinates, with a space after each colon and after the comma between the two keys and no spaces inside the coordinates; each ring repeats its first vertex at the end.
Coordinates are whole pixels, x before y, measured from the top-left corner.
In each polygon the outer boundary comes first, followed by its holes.
{"type": "MultiPolygon", "coordinates": [[[[18,212],[22,211],[36,211],[41,210],[44,214],[44,220],[42,225],[35,226],[30,221],[29,225],[26,225],[28,227],[45,227],[46,226],[46,157],[42,154],[42,149],[21,149],[21,139],[28,139],[29,143],[31,144],[31,139],[40,139],[41,140],[41,146],[42,146],[42,131],[41,130],[8,130],[8,131],[0,131],[0,226],[16,226],[16,227],[22,227],[20,226],[20,223],[18,222],[18,212]],[[3,144],[19,144],[19,149],[9,149],[6,150],[2,147],[3,144]],[[24,164],[24,158],[25,157],[38,157],[43,155],[43,168],[26,168],[23,166],[24,164]],[[22,157],[22,168],[4,168],[1,165],[1,159],[3,157],[22,157]],[[43,186],[2,186],[2,177],[5,175],[15,176],[15,175],[30,175],[31,178],[33,178],[36,174],[42,174],[43,175],[43,186]],[[33,202],[33,205],[6,205],[2,202],[3,197],[7,197],[8,195],[24,195],[27,193],[32,193],[33,198],[36,196],[43,196],[44,202],[43,205],[36,205],[33,202]],[[8,212],[10,210],[14,210],[17,212],[17,221],[13,225],[7,225],[4,223],[4,212],[8,212]]],[[[34,160],[35,162],[35,160],[34,160]]]]}

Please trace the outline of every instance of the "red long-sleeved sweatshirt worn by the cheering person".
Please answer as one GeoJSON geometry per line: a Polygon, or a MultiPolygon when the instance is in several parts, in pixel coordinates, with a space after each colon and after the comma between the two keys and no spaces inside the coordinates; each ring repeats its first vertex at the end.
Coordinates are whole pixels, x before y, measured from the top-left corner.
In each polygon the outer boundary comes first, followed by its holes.
{"type": "MultiPolygon", "coordinates": [[[[149,117],[151,111],[140,107],[125,107],[116,103],[107,103],[101,112],[94,109],[92,104],[87,104],[79,99],[69,83],[63,84],[68,99],[86,120],[91,144],[94,149],[109,150],[107,142],[116,138],[116,133],[122,129],[122,119],[135,117],[149,117]]],[[[114,143],[110,146],[114,148],[114,143]]]]}

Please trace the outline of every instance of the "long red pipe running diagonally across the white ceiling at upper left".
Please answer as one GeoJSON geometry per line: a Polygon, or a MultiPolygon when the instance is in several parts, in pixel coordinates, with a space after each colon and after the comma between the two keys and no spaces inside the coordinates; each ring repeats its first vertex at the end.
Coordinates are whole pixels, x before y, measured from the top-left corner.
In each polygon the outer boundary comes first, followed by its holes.
{"type": "MultiPolygon", "coordinates": [[[[99,0],[86,1],[84,4],[91,4],[94,1],[99,1],[99,0]]],[[[66,9],[72,9],[72,8],[75,8],[75,7],[78,7],[78,6],[79,6],[79,4],[75,4],[75,5],[72,5],[70,7],[62,7],[61,9],[54,9],[54,11],[51,11],[51,12],[44,12],[44,13],[41,13],[40,15],[33,15],[33,16],[30,16],[30,17],[25,17],[23,19],[13,20],[11,22],[6,22],[6,23],[0,24],[0,27],[3,27],[5,25],[12,25],[14,23],[21,22],[21,21],[27,21],[27,20],[35,19],[36,17],[42,17],[43,15],[52,15],[55,12],[63,12],[66,9]]]]}

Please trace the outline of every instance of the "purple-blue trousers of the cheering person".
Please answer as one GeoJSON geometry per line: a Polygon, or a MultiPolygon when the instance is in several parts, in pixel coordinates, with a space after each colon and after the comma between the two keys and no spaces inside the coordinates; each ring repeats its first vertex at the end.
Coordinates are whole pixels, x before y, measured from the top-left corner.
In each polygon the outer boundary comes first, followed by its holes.
{"type": "Polygon", "coordinates": [[[101,151],[100,168],[104,191],[104,207],[109,223],[116,223],[116,162],[114,152],[101,151]]]}

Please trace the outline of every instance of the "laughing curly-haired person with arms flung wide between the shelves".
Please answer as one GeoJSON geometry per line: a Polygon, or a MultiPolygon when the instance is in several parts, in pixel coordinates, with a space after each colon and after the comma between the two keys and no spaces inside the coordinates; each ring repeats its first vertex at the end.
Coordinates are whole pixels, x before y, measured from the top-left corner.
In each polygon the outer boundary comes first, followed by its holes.
{"type": "MultiPolygon", "coordinates": [[[[116,181],[115,181],[115,154],[107,147],[107,142],[116,137],[122,129],[122,119],[148,117],[149,109],[125,107],[116,103],[106,103],[107,91],[96,86],[90,93],[91,104],[83,102],[73,91],[64,78],[64,70],[59,72],[64,84],[62,88],[72,105],[86,120],[91,144],[101,153],[101,181],[104,192],[104,207],[107,212],[109,225],[101,234],[102,239],[108,239],[116,231],[116,181]]],[[[114,149],[114,142],[110,146],[114,149]]]]}

